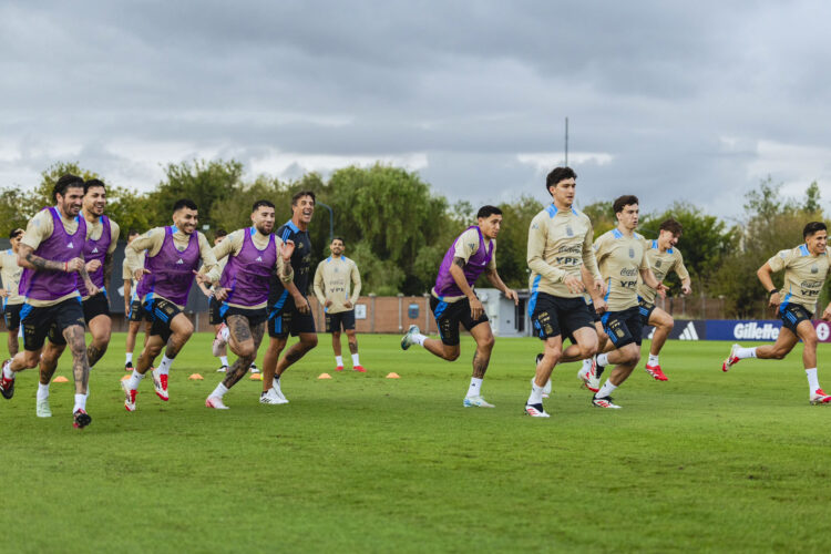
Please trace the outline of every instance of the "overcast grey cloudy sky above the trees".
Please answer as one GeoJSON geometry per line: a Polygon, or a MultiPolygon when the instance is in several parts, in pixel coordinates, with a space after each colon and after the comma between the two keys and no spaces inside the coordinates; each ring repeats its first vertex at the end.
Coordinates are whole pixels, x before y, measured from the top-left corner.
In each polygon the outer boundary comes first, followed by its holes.
{"type": "Polygon", "coordinates": [[[375,161],[451,201],[637,194],[722,217],[771,175],[831,207],[831,7],[798,2],[0,4],[0,185],[57,161],[148,189],[168,162],[293,178],[375,161]]]}

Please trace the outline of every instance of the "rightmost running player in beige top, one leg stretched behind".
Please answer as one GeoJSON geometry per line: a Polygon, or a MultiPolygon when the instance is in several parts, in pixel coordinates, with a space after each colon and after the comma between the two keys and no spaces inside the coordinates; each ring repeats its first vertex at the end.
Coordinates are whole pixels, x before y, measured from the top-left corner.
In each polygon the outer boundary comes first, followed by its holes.
{"type": "MultiPolygon", "coordinates": [[[[721,365],[727,371],[745,358],[781,360],[802,340],[802,363],[808,377],[808,400],[812,404],[827,404],[831,396],[820,388],[817,377],[817,331],[811,315],[822,293],[829,271],[828,228],[822,222],[811,222],[802,230],[804,244],[790,250],[780,250],[756,273],[770,297],[769,306],[777,309],[782,329],[773,345],[742,348],[733,345],[730,356],[721,365]],[[784,270],[782,288],[773,285],[772,274],[784,270]]],[[[831,320],[831,304],[822,311],[822,319],[831,320]]]]}

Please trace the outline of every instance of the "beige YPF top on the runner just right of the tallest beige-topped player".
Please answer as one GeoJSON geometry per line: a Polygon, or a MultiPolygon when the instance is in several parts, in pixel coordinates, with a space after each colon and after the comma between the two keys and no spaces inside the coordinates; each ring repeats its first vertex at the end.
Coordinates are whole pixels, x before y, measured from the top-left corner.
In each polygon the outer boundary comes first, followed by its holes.
{"type": "Polygon", "coordinates": [[[604,233],[594,243],[594,254],[608,290],[608,311],[623,311],[638,305],[637,284],[642,269],[648,269],[644,237],[627,237],[618,229],[604,233]]]}

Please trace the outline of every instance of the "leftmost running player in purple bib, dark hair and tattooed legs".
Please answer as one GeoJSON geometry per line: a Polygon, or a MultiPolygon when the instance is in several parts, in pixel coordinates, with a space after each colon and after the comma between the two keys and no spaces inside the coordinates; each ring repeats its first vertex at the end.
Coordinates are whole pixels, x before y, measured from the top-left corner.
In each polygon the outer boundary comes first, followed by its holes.
{"type": "MultiPolygon", "coordinates": [[[[17,371],[33,368],[39,362],[47,367],[57,363],[69,343],[75,379],[72,425],[76,429],[89,425],[92,418],[86,413],[90,363],[75,274],[80,275],[90,295],[99,291],[83,260],[83,246],[89,233],[86,220],[79,216],[83,196],[84,179],[62,175],[52,188],[55,205],[38,212],[27,225],[18,247],[18,263],[23,267],[20,294],[25,298],[20,310],[23,351],[3,363],[0,379],[0,393],[10,399],[14,394],[17,371]],[[47,337],[49,345],[44,348],[47,337]]],[[[37,399],[38,417],[51,417],[49,384],[43,383],[42,376],[37,399]]]]}

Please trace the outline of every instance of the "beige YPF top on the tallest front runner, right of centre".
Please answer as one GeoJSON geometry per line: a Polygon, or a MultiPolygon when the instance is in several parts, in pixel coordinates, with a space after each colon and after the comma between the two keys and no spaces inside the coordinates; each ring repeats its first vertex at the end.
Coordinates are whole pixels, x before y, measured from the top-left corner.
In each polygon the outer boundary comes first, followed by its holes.
{"type": "Polygon", "coordinates": [[[568,290],[563,279],[568,275],[581,279],[582,265],[595,279],[601,278],[592,250],[593,236],[592,220],[575,208],[557,209],[550,204],[536,214],[529,229],[529,283],[532,293],[541,290],[561,298],[582,297],[583,293],[568,290]]]}

